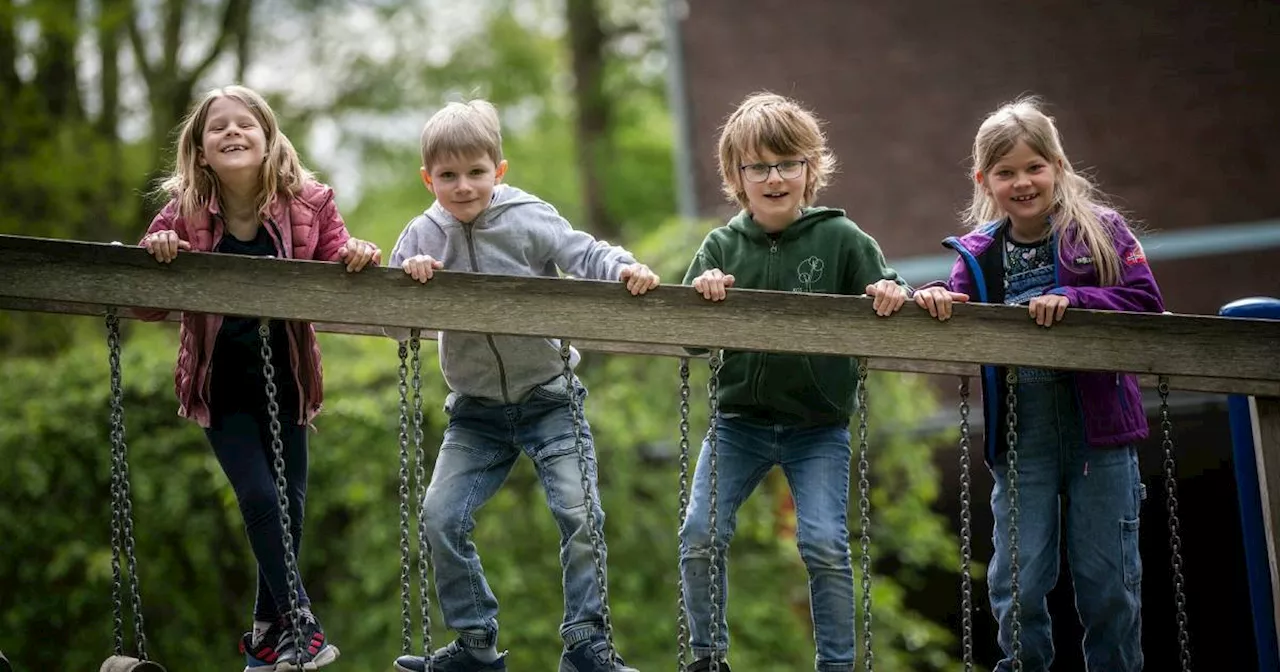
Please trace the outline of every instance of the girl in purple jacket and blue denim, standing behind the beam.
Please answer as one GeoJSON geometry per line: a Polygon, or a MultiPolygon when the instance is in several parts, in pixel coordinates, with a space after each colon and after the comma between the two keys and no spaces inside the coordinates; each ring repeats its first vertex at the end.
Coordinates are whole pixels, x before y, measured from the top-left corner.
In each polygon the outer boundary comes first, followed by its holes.
{"type": "MultiPolygon", "coordinates": [[[[954,301],[1027,306],[1041,326],[1069,307],[1162,312],[1142,244],[1071,169],[1052,118],[1034,100],[987,116],[973,145],[973,230],[943,244],[959,253],[951,278],[915,294],[940,320],[954,301]]],[[[984,366],[987,463],[995,475],[995,557],[988,586],[1005,659],[1012,667],[1007,371],[984,366]]],[[[1146,497],[1134,442],[1147,436],[1130,374],[1016,371],[1019,566],[1023,669],[1050,669],[1046,595],[1057,584],[1065,535],[1088,669],[1142,669],[1138,509],[1146,497]]]]}

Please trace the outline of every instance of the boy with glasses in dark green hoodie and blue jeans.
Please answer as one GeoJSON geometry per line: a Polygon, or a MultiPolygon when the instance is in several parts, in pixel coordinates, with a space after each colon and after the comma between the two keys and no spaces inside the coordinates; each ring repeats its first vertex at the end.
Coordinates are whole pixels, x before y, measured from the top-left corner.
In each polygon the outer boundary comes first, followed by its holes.
{"type": "MultiPolygon", "coordinates": [[[[772,93],[748,97],[719,138],[724,193],[742,206],[707,236],[684,284],[723,301],[726,288],[870,294],[881,316],[910,291],[876,241],[842,210],[812,206],[835,168],[817,118],[772,93]]],[[[819,672],[854,669],[854,571],[849,550],[849,421],[858,387],[850,357],[726,352],[719,374],[717,524],[710,466],[699,460],[680,530],[680,571],[692,631],[690,672],[728,672],[726,552],[736,513],[781,466],[796,503],[796,541],[809,572],[819,672]],[[719,602],[712,641],[710,566],[719,602]],[[713,657],[719,660],[713,668],[713,657]]],[[[703,442],[701,454],[709,451],[703,442]]]]}

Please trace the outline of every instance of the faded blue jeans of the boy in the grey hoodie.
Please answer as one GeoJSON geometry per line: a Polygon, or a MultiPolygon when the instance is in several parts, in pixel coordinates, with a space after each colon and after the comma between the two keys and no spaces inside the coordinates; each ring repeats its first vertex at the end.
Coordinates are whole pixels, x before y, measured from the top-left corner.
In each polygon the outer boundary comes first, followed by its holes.
{"type": "MultiPolygon", "coordinates": [[[[561,531],[564,588],[561,636],[566,645],[572,645],[604,630],[570,393],[564,379],[557,378],[534,388],[520,403],[458,394],[451,394],[445,402],[449,425],[424,503],[426,538],[444,622],[467,646],[492,646],[498,639],[498,599],[471,541],[475,512],[498,492],[521,453],[534,461],[547,506],[561,531]]],[[[585,402],[586,388],[576,380],[572,393],[585,402]]],[[[585,417],[581,426],[603,550],[604,511],[599,506],[595,448],[585,417]]]]}

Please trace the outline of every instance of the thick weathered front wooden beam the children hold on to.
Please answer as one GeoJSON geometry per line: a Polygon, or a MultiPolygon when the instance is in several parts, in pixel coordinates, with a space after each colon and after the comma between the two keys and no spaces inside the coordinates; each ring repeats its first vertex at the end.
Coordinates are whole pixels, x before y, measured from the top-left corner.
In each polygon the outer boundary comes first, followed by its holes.
{"type": "Polygon", "coordinates": [[[1024,308],[960,305],[938,323],[913,307],[877,317],[865,297],[733,289],[712,303],[685,287],[632,297],[618,283],[447,271],[422,285],[398,269],[348,274],[337,264],[200,253],[156,264],[132,246],[12,236],[0,236],[0,297],[14,300],[1280,383],[1280,321],[1270,320],[1071,310],[1043,329],[1024,308]]]}

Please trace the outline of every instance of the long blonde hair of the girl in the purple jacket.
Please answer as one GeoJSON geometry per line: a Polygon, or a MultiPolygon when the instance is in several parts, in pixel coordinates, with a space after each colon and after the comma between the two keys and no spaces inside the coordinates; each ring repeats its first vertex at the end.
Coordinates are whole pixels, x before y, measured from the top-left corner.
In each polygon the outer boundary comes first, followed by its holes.
{"type": "MultiPolygon", "coordinates": [[[[1053,207],[1050,216],[1051,232],[1059,241],[1070,234],[1075,242],[1083,243],[1093,257],[1098,282],[1103,285],[1116,284],[1120,278],[1120,255],[1115,250],[1112,232],[1102,219],[1102,214],[1111,206],[1092,180],[1071,168],[1066,152],[1062,151],[1062,138],[1053,124],[1053,118],[1041,110],[1038,99],[1018,99],[1002,105],[983,120],[973,141],[974,173],[982,172],[984,175],[989,173],[1019,141],[1025,142],[1032,151],[1056,168],[1053,207]]],[[[980,227],[1005,216],[1006,212],[1000,204],[975,179],[973,201],[964,212],[965,223],[980,227]]],[[[1071,259],[1065,259],[1065,262],[1075,264],[1071,259]]]]}

